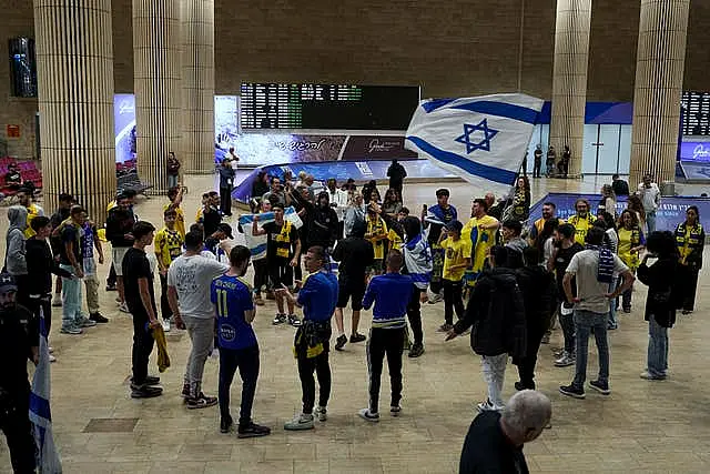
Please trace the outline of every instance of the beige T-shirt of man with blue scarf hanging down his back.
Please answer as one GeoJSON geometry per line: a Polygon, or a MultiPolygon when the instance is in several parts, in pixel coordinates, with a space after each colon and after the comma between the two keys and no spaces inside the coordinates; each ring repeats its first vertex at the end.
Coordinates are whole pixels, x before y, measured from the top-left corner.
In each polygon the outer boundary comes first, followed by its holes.
{"type": "MultiPolygon", "coordinates": [[[[575,310],[591,311],[592,313],[608,313],[609,299],[605,296],[609,293],[609,283],[597,280],[597,268],[599,266],[599,252],[596,250],[582,250],[572,256],[567,266],[567,273],[576,276],[577,296],[581,299],[575,305],[575,310]]],[[[613,274],[618,275],[629,270],[623,264],[619,255],[613,254],[613,274]]]]}

